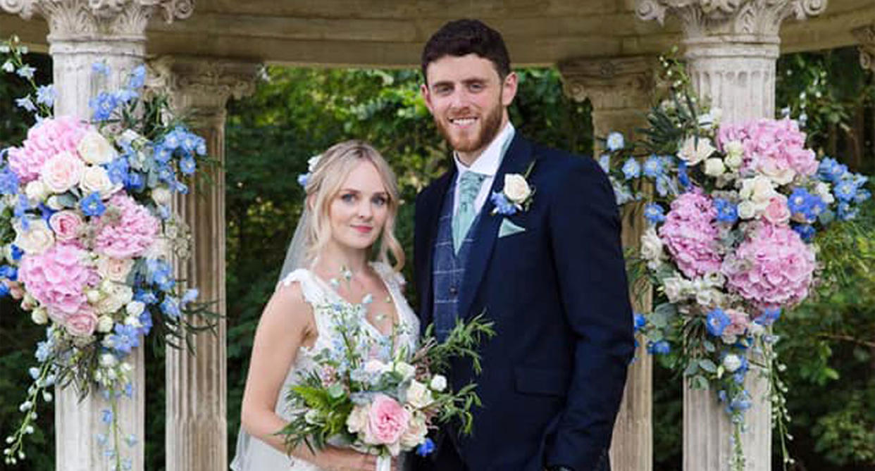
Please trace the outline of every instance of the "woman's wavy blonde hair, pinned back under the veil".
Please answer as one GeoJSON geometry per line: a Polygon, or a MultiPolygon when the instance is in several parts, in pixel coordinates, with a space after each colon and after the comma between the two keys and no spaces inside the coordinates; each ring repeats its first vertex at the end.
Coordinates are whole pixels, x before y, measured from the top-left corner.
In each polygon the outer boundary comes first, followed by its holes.
{"type": "Polygon", "coordinates": [[[339,142],[325,150],[307,178],[304,187],[307,194],[305,204],[310,204],[311,210],[311,224],[307,230],[307,259],[315,260],[319,251],[331,239],[331,224],[328,221],[331,203],[339,194],[346,177],[363,161],[374,165],[388,193],[388,211],[386,223],[381,228],[377,260],[392,265],[396,272],[400,272],[404,266],[404,251],[398,239],[395,239],[395,217],[399,203],[395,172],[376,149],[366,142],[356,140],[339,142]],[[395,264],[390,263],[389,254],[395,259],[395,264]]]}

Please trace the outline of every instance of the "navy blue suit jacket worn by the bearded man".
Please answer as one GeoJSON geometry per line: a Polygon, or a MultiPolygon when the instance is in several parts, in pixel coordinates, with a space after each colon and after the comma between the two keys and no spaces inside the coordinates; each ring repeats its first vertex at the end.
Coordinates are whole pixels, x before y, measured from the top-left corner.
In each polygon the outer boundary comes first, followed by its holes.
{"type": "MultiPolygon", "coordinates": [[[[509,216],[525,232],[498,237],[502,218],[486,201],[459,287],[458,312],[481,312],[497,336],[481,345],[483,372],[455,361],[451,384],[478,384],[471,436],[450,432],[470,470],[605,468],[627,365],[634,354],[620,218],[605,173],[590,158],[514,136],[492,191],[524,173],[535,195],[509,216]]],[[[423,326],[432,322],[432,247],[456,170],[416,197],[414,265],[423,326]]],[[[440,450],[438,450],[440,451],[440,450]]],[[[449,471],[449,470],[446,470],[449,471]]]]}

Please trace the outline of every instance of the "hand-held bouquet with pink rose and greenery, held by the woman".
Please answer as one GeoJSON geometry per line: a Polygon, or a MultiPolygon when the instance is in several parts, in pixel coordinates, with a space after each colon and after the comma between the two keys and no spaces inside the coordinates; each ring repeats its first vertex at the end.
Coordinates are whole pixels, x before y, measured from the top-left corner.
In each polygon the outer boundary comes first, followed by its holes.
{"type": "Polygon", "coordinates": [[[379,455],[378,469],[388,469],[391,456],[433,451],[426,434],[436,421],[459,419],[470,433],[470,409],[479,405],[475,384],[453,392],[441,373],[451,357],[470,358],[479,372],[476,348],[494,335],[492,323],[479,316],[458,322],[444,343],[429,328],[421,346],[409,350],[395,345],[397,329],[382,339],[368,335],[366,308],[367,302],[325,307],[340,340],[318,352],[314,371],[287,391],[293,417],[280,432],[287,447],[352,447],[379,455]]]}

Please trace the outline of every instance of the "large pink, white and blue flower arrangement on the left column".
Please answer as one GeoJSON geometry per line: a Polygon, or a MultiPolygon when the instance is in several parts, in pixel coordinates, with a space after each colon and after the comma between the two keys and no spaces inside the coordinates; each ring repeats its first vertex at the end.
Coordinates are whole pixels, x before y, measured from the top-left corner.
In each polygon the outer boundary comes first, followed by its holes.
{"type": "MultiPolygon", "coordinates": [[[[0,295],[20,300],[47,328],[19,407],[25,417],[6,439],[4,459],[25,459],[40,400],[52,400],[52,384],[72,383],[83,398],[96,387],[109,399],[102,415],[109,437],[100,441],[115,468],[127,468],[121,442],[136,438],[119,430],[116,401],[134,391],[131,350],[153,330],[158,342],[187,340],[203,329],[187,315],[207,314],[193,304],[198,290],[183,289],[171,265],[188,253],[171,200],[187,191],[179,174],[193,174],[206,142],[156,118],[161,100],[140,97],[144,66],[127,87],[92,100],[93,122],[52,116],[52,86],[36,87],[16,43],[3,46],[4,70],[31,81],[37,102],[28,95],[18,106],[37,122],[0,154],[0,295]]],[[[94,73],[109,69],[98,63],[94,73]]]]}

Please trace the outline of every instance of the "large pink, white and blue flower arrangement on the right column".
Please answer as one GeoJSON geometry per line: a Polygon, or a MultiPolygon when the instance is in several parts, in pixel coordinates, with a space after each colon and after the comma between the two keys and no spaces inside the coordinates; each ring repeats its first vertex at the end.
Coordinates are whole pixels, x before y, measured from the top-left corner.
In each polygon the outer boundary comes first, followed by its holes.
{"type": "Polygon", "coordinates": [[[866,177],[806,148],[796,121],[721,124],[719,110],[689,92],[683,67],[669,71],[671,95],[648,114],[647,156],[613,133],[602,164],[620,204],[649,188],[637,268],[663,302],[636,327],[649,351],[676,350],[692,387],[715,391],[736,425],[732,466],[743,469],[746,375],[768,378],[783,440],[786,387],[772,325],[817,282],[816,233],[854,218],[871,192],[866,177]]]}

